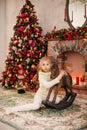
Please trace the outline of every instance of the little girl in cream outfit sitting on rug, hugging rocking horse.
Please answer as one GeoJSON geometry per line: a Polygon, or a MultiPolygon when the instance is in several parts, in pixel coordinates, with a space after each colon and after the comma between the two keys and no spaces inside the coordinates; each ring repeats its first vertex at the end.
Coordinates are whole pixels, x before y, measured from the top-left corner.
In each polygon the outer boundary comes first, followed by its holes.
{"type": "Polygon", "coordinates": [[[8,108],[6,110],[7,114],[17,111],[37,110],[41,107],[42,101],[46,100],[49,89],[55,84],[59,83],[62,76],[65,74],[64,71],[61,71],[59,76],[52,80],[50,78],[51,66],[52,62],[50,57],[45,56],[40,60],[38,72],[39,89],[34,96],[34,102],[31,104],[8,108]]]}

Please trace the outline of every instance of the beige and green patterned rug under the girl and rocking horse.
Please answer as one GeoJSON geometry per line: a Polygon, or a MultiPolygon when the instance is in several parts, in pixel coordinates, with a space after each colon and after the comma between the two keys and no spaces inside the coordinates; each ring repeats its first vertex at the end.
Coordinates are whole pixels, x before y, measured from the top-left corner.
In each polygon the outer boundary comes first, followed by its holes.
{"type": "MultiPolygon", "coordinates": [[[[5,114],[6,107],[33,101],[34,93],[18,94],[16,90],[0,88],[0,121],[18,130],[86,130],[87,99],[78,95],[72,106],[55,110],[42,106],[40,110],[5,114]]],[[[62,98],[64,95],[60,95],[62,98]]]]}

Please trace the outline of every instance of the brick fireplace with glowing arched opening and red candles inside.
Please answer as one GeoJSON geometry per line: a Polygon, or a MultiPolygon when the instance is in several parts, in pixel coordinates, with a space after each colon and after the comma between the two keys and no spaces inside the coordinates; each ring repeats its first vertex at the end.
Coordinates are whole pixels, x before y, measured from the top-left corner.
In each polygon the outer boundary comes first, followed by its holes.
{"type": "Polygon", "coordinates": [[[87,39],[49,40],[47,54],[54,58],[64,54],[65,69],[71,74],[73,85],[87,87],[87,39]]]}

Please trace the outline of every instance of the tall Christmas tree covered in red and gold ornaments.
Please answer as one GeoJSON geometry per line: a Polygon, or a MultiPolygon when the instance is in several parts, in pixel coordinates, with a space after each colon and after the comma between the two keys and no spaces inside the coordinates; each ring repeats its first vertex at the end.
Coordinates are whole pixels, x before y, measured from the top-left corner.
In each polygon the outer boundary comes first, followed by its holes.
{"type": "Polygon", "coordinates": [[[42,28],[35,13],[34,5],[26,0],[13,28],[14,35],[9,44],[5,71],[2,73],[2,86],[6,88],[35,87],[31,81],[37,73],[40,58],[45,54],[42,28]]]}

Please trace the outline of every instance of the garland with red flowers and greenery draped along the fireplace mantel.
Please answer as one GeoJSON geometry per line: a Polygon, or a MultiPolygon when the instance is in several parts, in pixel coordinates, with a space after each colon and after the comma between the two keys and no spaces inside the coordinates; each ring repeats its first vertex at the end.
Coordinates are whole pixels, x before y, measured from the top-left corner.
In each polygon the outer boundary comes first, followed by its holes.
{"type": "Polygon", "coordinates": [[[56,30],[54,33],[53,32],[47,32],[45,35],[46,40],[50,39],[60,39],[60,40],[74,40],[77,38],[87,38],[87,27],[78,27],[75,29],[61,29],[61,30],[56,30]]]}

